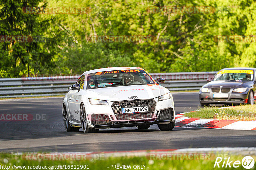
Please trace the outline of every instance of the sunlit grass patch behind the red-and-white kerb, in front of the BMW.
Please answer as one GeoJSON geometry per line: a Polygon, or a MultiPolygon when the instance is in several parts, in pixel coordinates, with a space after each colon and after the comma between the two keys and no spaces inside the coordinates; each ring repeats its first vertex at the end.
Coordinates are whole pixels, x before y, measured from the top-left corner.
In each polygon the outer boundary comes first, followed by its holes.
{"type": "Polygon", "coordinates": [[[219,107],[203,107],[199,108],[199,110],[195,112],[185,113],[184,117],[200,119],[255,121],[256,105],[241,105],[224,109],[219,109],[219,107]]]}

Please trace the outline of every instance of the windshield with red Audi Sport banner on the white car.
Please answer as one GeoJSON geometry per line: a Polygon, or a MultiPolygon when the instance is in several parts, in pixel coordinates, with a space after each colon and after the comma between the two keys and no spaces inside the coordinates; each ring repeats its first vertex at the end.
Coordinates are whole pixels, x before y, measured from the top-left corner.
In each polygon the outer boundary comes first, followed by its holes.
{"type": "Polygon", "coordinates": [[[155,84],[144,70],[112,70],[88,74],[87,89],[155,84]]]}

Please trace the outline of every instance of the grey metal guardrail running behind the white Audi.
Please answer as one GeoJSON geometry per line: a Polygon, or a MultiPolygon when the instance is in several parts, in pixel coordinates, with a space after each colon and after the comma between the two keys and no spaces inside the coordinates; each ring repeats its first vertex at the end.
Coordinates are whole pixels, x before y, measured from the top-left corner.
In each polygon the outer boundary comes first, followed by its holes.
{"type": "MultiPolygon", "coordinates": [[[[182,73],[151,73],[156,77],[162,77],[166,81],[161,84],[170,91],[198,90],[208,78],[212,78],[217,72],[182,72],[182,73]]],[[[55,96],[67,92],[67,87],[74,84],[79,78],[75,76],[54,77],[24,77],[0,79],[0,98],[24,97],[24,96],[55,96]]]]}

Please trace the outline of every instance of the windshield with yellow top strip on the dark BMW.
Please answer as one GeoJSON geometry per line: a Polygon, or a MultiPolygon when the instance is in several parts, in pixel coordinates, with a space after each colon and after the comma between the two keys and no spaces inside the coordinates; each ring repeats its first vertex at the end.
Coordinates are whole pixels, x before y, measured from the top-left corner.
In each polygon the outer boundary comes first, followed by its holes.
{"type": "Polygon", "coordinates": [[[221,70],[213,78],[213,81],[252,81],[253,70],[221,70]]]}

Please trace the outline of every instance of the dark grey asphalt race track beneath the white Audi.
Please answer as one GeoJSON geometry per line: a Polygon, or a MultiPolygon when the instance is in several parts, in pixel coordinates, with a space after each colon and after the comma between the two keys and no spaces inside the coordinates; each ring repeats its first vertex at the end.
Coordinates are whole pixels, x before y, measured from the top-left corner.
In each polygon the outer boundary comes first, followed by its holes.
{"type": "MultiPolygon", "coordinates": [[[[196,110],[198,93],[173,93],[176,114],[196,110]]],[[[160,131],[136,127],[102,129],[98,133],[66,132],[63,97],[0,100],[0,114],[45,115],[45,120],[0,121],[0,152],[102,152],[191,147],[255,147],[256,132],[208,128],[160,131]]]]}

